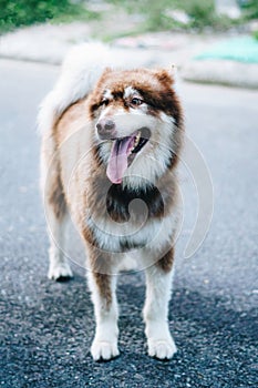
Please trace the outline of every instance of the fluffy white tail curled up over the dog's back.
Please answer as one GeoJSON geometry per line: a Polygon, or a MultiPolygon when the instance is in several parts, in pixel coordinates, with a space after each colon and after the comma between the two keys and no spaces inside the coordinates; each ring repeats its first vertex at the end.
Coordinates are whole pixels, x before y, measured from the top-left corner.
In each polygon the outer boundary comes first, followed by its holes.
{"type": "Polygon", "coordinates": [[[82,43],[68,53],[53,90],[44,98],[38,115],[40,134],[51,132],[54,123],[72,103],[86,96],[103,70],[112,64],[102,43],[82,43]]]}

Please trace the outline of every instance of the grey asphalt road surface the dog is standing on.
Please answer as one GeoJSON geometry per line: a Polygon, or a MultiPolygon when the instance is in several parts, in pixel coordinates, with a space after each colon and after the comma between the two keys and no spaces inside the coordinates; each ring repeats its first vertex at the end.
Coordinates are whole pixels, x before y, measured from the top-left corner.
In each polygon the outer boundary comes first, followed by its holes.
{"type": "Polygon", "coordinates": [[[56,68],[2,60],[0,73],[1,386],[257,386],[258,93],[182,85],[187,132],[213,180],[214,217],[200,248],[185,258],[197,201],[183,171],[169,314],[178,353],[167,363],[146,355],[138,273],[120,278],[121,356],[100,364],[89,353],[94,319],[84,269],[74,264],[69,283],[47,278],[35,115],[56,68]]]}

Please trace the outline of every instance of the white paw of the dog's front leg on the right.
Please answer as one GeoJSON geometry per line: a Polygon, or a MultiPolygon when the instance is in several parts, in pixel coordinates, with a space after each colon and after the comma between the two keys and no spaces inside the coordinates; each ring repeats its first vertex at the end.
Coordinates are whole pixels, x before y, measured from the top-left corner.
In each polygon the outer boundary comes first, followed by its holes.
{"type": "Polygon", "coordinates": [[[176,345],[173,338],[148,339],[148,356],[159,359],[169,359],[176,353],[176,345]]]}

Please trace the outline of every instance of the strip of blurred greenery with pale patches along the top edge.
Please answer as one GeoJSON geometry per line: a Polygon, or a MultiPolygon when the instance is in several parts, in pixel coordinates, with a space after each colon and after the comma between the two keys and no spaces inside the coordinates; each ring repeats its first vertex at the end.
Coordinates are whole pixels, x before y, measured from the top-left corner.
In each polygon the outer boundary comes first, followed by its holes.
{"type": "Polygon", "coordinates": [[[149,31],[248,31],[257,35],[256,0],[1,0],[1,32],[34,23],[71,22],[92,25],[104,40],[149,31]],[[94,21],[97,20],[97,25],[94,21]],[[113,24],[113,25],[112,25],[113,24]]]}

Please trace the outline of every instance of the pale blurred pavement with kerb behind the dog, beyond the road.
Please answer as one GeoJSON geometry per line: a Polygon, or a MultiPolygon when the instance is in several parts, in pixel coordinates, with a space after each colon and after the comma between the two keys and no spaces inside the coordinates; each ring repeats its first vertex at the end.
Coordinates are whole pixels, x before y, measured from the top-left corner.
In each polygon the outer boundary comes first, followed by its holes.
{"type": "MultiPolygon", "coordinates": [[[[90,25],[82,22],[24,28],[0,38],[0,58],[60,64],[72,45],[91,37],[90,25]]],[[[258,63],[194,60],[195,55],[228,38],[228,34],[147,33],[116,39],[111,50],[118,63],[133,67],[175,63],[182,78],[188,81],[258,89],[258,63]]]]}

